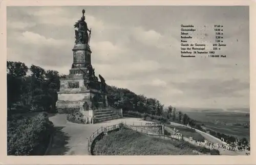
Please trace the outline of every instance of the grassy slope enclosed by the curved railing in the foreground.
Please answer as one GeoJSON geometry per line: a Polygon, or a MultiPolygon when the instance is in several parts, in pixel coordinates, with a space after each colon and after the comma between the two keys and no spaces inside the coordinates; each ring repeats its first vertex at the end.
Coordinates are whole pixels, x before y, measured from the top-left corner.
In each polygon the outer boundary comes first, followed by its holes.
{"type": "Polygon", "coordinates": [[[155,138],[130,129],[104,136],[94,146],[94,155],[198,155],[210,150],[169,139],[155,138]]]}

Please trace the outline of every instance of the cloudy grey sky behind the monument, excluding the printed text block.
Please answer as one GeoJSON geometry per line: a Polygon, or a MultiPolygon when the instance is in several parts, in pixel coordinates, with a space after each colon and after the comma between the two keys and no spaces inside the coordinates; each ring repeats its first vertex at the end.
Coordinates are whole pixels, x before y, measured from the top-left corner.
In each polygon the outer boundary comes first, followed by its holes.
{"type": "Polygon", "coordinates": [[[7,60],[68,74],[86,10],[95,74],[165,106],[249,107],[249,8],[7,7],[7,60]],[[223,25],[226,58],[181,58],[181,25],[223,25]]]}

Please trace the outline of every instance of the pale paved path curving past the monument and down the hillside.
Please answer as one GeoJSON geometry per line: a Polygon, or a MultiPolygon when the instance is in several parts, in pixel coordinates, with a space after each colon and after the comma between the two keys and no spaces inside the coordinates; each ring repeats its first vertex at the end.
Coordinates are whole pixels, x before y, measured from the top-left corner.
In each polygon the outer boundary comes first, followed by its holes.
{"type": "MultiPolygon", "coordinates": [[[[92,135],[92,133],[100,127],[119,124],[121,122],[126,122],[127,124],[139,122],[149,123],[141,119],[131,117],[123,117],[122,119],[88,125],[71,123],[68,122],[66,119],[66,114],[56,114],[49,117],[49,120],[53,122],[54,127],[57,131],[53,136],[52,145],[47,155],[88,155],[88,139],[92,135]]],[[[173,126],[184,126],[173,122],[171,122],[171,124],[173,126]]],[[[201,133],[209,142],[218,142],[218,140],[214,136],[211,136],[204,132],[202,133],[202,131],[200,131],[199,133],[201,133]]],[[[222,155],[241,155],[241,153],[234,151],[221,150],[220,152],[222,155]]],[[[242,155],[245,155],[245,153],[243,153],[242,155]]]]}

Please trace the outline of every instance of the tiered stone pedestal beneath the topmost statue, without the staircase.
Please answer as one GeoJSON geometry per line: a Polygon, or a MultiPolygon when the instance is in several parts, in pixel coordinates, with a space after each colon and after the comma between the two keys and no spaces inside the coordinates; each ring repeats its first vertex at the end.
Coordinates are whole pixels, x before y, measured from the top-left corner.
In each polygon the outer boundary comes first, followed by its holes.
{"type": "MultiPolygon", "coordinates": [[[[59,113],[80,111],[93,121],[95,109],[108,106],[106,94],[100,90],[100,82],[94,76],[91,86],[84,83],[84,76],[91,66],[91,50],[87,44],[75,44],[73,48],[73,63],[66,78],[60,79],[60,90],[56,107],[59,113]]],[[[86,76],[87,77],[87,76],[86,76]]]]}

